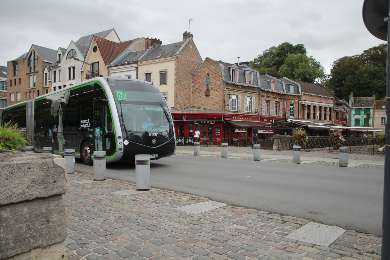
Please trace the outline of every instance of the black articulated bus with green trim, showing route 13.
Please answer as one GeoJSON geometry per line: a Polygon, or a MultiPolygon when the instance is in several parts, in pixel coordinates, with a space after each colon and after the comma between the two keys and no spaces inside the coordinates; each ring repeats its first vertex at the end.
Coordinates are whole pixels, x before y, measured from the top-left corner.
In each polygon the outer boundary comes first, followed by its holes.
{"type": "Polygon", "coordinates": [[[172,115],[160,90],[126,77],[97,77],[4,108],[2,121],[18,123],[35,152],[75,149],[90,165],[94,151],[106,162],[171,156],[176,149],[172,115]]]}

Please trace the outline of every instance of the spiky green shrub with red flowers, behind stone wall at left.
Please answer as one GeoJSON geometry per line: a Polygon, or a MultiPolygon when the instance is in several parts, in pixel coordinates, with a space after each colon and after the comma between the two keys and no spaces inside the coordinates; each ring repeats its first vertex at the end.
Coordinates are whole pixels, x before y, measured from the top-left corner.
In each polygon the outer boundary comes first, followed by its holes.
{"type": "Polygon", "coordinates": [[[15,151],[16,147],[27,145],[27,135],[19,130],[18,124],[4,123],[0,127],[0,149],[15,151]]]}

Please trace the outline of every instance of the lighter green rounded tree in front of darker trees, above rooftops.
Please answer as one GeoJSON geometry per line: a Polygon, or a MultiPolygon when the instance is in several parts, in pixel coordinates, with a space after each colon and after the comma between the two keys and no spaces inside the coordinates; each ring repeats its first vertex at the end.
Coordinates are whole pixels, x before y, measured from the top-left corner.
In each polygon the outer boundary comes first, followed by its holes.
{"type": "Polygon", "coordinates": [[[316,79],[322,79],[325,76],[324,67],[312,56],[307,57],[304,54],[291,54],[286,59],[280,74],[291,80],[299,80],[308,83],[314,83],[316,79]]]}

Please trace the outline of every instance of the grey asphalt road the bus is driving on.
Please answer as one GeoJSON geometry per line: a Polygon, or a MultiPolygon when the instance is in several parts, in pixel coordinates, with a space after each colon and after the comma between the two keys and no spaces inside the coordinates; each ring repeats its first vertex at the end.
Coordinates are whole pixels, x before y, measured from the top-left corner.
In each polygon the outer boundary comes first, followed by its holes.
{"type": "MultiPolygon", "coordinates": [[[[93,174],[80,160],[75,169],[93,174]]],[[[135,182],[135,166],[107,164],[106,177],[135,182]]],[[[383,170],[174,155],[151,161],[151,187],[382,232],[383,170]]]]}

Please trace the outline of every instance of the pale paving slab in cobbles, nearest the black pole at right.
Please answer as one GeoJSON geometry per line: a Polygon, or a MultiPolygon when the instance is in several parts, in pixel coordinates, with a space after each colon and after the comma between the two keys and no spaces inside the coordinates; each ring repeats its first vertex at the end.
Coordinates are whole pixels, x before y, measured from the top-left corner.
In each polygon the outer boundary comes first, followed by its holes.
{"type": "Polygon", "coordinates": [[[327,247],[335,242],[345,231],[345,229],[338,226],[309,222],[285,236],[285,238],[327,247]]]}

